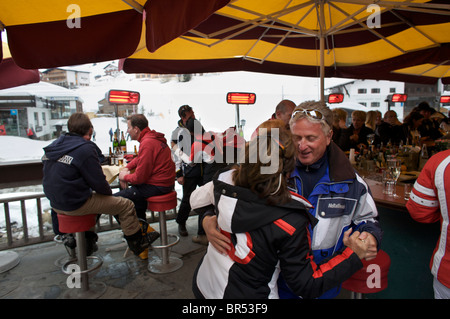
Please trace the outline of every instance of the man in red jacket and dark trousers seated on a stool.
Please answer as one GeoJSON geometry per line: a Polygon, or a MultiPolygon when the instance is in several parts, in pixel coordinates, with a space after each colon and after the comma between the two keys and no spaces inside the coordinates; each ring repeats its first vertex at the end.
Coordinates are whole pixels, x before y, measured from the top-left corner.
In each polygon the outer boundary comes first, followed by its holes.
{"type": "Polygon", "coordinates": [[[122,190],[114,195],[132,200],[137,217],[146,220],[147,198],[174,189],[175,163],[164,134],[151,130],[143,114],[129,116],[127,125],[131,139],[140,143],[139,155],[120,171],[122,190]]]}

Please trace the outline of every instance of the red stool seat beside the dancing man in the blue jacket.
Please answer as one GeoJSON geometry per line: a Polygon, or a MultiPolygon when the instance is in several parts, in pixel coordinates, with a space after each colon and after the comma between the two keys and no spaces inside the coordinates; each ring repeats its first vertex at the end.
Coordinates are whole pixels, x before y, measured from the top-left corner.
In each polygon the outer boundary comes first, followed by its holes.
{"type": "Polygon", "coordinates": [[[361,261],[363,263],[363,268],[358,270],[342,284],[342,288],[352,292],[352,299],[362,299],[362,294],[380,292],[386,289],[388,285],[388,273],[391,265],[391,258],[384,250],[378,251],[375,259],[370,261],[363,259],[361,261]],[[374,267],[374,265],[376,266],[374,267]],[[370,267],[370,269],[368,269],[368,267],[370,267]],[[375,276],[378,275],[376,273],[378,270],[380,271],[380,277],[375,278],[375,276]],[[375,279],[375,283],[372,279],[375,279]]]}

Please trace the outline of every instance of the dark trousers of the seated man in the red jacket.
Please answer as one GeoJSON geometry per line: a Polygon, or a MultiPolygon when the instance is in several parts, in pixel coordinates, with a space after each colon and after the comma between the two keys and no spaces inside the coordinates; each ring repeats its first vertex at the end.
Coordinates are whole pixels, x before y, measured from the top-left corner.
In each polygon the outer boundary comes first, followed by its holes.
{"type": "Polygon", "coordinates": [[[149,184],[131,185],[114,194],[114,196],[121,196],[128,198],[134,203],[136,215],[139,219],[147,220],[147,198],[152,196],[164,195],[170,193],[174,186],[155,186],[149,184]]]}

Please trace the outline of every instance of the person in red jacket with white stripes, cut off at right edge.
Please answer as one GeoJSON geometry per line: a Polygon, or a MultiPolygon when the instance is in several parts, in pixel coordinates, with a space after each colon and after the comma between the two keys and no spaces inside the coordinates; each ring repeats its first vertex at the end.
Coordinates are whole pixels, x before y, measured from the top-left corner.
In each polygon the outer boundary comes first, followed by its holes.
{"type": "Polygon", "coordinates": [[[420,223],[440,221],[441,235],[431,257],[435,298],[450,298],[450,150],[432,156],[417,178],[406,203],[411,217],[420,223]]]}

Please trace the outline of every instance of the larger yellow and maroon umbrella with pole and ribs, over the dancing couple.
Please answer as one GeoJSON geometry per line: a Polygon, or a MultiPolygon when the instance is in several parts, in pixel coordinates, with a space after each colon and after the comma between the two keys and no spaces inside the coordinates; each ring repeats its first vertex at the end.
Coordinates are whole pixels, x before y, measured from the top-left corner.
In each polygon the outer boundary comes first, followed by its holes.
{"type": "Polygon", "coordinates": [[[449,31],[447,0],[235,0],[159,49],[142,37],[121,66],[320,77],[323,98],[324,77],[450,83],[449,31]]]}

